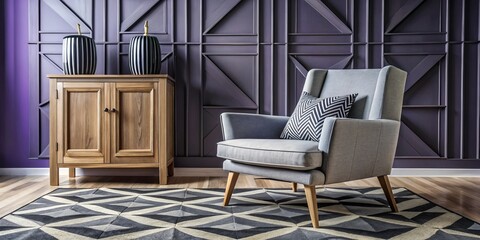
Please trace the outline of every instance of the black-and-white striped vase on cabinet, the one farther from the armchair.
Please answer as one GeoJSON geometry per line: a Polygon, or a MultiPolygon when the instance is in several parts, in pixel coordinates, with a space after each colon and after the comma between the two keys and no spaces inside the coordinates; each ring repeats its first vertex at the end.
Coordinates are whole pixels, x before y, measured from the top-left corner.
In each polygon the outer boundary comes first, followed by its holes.
{"type": "Polygon", "coordinates": [[[64,37],[62,62],[64,74],[94,74],[97,68],[95,41],[82,35],[64,37]]]}

